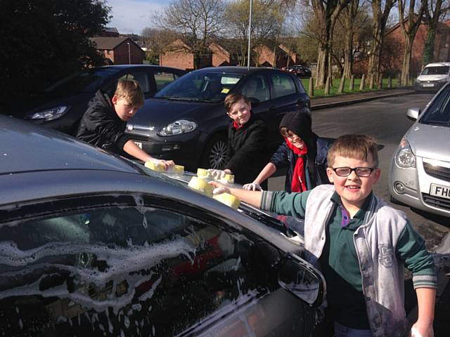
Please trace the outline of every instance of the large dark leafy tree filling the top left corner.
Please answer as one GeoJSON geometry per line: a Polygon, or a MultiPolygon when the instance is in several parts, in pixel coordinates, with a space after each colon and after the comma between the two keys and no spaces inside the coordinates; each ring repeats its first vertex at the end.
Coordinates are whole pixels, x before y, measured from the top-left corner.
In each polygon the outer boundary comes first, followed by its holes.
{"type": "Polygon", "coordinates": [[[33,91],[103,58],[89,40],[108,22],[103,0],[1,1],[0,101],[33,91]]]}

